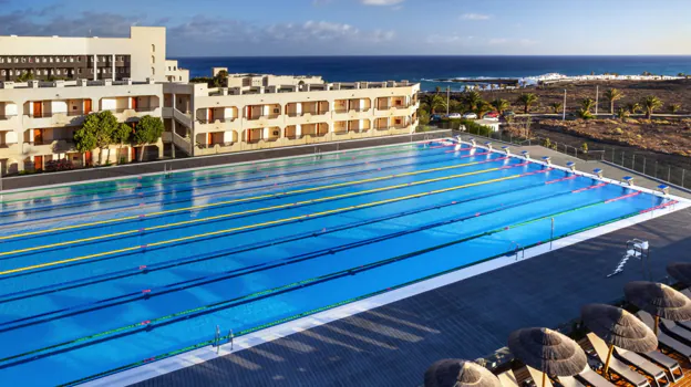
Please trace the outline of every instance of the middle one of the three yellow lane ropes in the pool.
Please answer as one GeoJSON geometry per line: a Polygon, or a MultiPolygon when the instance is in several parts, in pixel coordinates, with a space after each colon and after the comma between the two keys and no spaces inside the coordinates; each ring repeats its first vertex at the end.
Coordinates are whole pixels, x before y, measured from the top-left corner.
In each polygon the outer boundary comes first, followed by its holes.
{"type": "MultiPolygon", "coordinates": [[[[497,158],[497,159],[491,159],[491,160],[485,160],[485,161],[477,161],[477,163],[467,164],[467,166],[478,165],[478,164],[486,164],[486,163],[493,163],[493,161],[499,161],[499,160],[503,160],[503,159],[506,159],[506,158],[497,158]]],[[[524,166],[524,165],[517,164],[515,166],[516,167],[520,167],[520,166],[524,166]]],[[[14,255],[14,254],[24,253],[24,252],[39,251],[39,250],[45,250],[45,249],[72,245],[72,244],[84,243],[84,242],[93,242],[93,241],[100,241],[100,240],[118,238],[118,237],[125,237],[125,236],[133,236],[133,234],[143,233],[143,232],[147,232],[147,231],[155,231],[155,230],[163,230],[163,229],[168,229],[168,228],[176,228],[176,227],[186,226],[186,224],[204,223],[204,222],[219,220],[219,219],[227,219],[227,218],[235,218],[235,217],[240,217],[240,216],[246,216],[246,215],[269,212],[269,211],[275,211],[275,210],[286,209],[286,208],[302,207],[302,206],[307,206],[307,205],[314,205],[314,203],[320,203],[320,202],[324,202],[324,201],[340,200],[340,199],[344,199],[344,198],[362,196],[362,195],[369,195],[369,194],[377,194],[377,192],[382,192],[382,191],[389,191],[389,190],[394,190],[394,189],[399,189],[399,188],[408,188],[408,187],[420,186],[420,185],[425,185],[425,184],[436,182],[436,181],[442,181],[442,180],[447,180],[447,179],[455,179],[455,178],[461,178],[461,177],[481,175],[481,174],[486,174],[486,172],[491,172],[491,171],[497,171],[497,170],[501,170],[501,169],[505,169],[505,168],[504,167],[502,167],[502,168],[498,168],[498,167],[497,168],[488,168],[488,169],[475,170],[475,171],[466,172],[466,174],[451,175],[451,176],[447,176],[447,177],[444,177],[444,178],[434,178],[434,179],[420,180],[420,181],[414,181],[414,182],[404,182],[404,184],[400,184],[400,185],[395,185],[395,186],[372,188],[372,189],[368,189],[368,190],[349,192],[349,194],[341,194],[341,195],[334,195],[334,196],[324,197],[324,198],[317,198],[317,199],[297,201],[297,202],[278,205],[278,206],[271,206],[271,207],[256,208],[256,209],[251,209],[251,210],[224,213],[224,215],[218,215],[218,216],[214,216],[214,217],[199,218],[199,219],[193,219],[193,220],[184,220],[184,221],[178,221],[178,222],[174,222],[174,223],[151,226],[151,227],[146,227],[146,228],[138,228],[138,229],[133,229],[133,230],[127,230],[127,231],[114,232],[114,233],[110,233],[110,234],[105,234],[105,236],[96,236],[96,237],[75,239],[75,240],[71,240],[71,241],[64,241],[64,242],[58,242],[58,243],[51,243],[51,244],[44,244],[44,245],[35,245],[35,247],[31,247],[31,248],[24,248],[24,249],[17,249],[17,250],[7,251],[7,252],[0,252],[0,257],[8,257],[8,255],[14,255]]],[[[142,218],[142,217],[140,217],[140,218],[142,218]]],[[[18,238],[18,237],[13,237],[13,238],[18,238]]]]}

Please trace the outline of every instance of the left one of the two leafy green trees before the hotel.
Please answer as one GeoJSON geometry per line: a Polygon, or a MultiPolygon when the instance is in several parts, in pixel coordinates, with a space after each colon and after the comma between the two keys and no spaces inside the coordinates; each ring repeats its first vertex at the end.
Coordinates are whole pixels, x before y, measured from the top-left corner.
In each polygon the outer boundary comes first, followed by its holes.
{"type": "Polygon", "coordinates": [[[101,165],[103,149],[112,144],[113,132],[117,125],[117,118],[110,111],[87,115],[82,127],[74,133],[76,149],[85,153],[99,148],[99,165],[101,165]]]}

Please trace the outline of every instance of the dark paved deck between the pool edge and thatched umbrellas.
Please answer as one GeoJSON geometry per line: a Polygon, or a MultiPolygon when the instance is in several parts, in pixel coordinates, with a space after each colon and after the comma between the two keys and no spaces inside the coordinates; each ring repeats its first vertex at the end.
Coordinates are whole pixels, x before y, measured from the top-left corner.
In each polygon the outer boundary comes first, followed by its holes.
{"type": "Polygon", "coordinates": [[[663,279],[667,262],[691,257],[691,209],[134,386],[420,386],[440,358],[486,356],[516,328],[556,327],[586,303],[621,299],[640,263],[606,275],[632,238],[650,241],[652,276],[663,279]]]}

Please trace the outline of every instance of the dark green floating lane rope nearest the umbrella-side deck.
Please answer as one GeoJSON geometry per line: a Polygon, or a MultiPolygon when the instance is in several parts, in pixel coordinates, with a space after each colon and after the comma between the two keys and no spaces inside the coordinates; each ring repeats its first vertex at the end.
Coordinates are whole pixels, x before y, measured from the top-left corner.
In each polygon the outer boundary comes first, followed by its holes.
{"type": "MultiPolygon", "coordinates": [[[[595,203],[588,203],[588,205],[584,205],[584,206],[579,206],[579,207],[575,207],[575,208],[569,208],[567,210],[561,210],[561,211],[557,211],[557,212],[549,213],[549,215],[546,215],[546,216],[533,218],[530,220],[526,220],[526,221],[523,221],[523,222],[518,222],[518,223],[514,223],[514,224],[509,224],[509,226],[495,228],[495,229],[492,229],[492,230],[484,231],[482,233],[477,233],[477,234],[470,236],[470,237],[464,237],[464,238],[461,238],[458,240],[445,242],[445,243],[433,245],[433,247],[425,248],[425,249],[422,249],[422,250],[417,250],[417,251],[409,252],[409,253],[405,253],[405,254],[396,255],[396,257],[393,257],[393,258],[389,258],[389,259],[384,259],[384,260],[367,263],[367,264],[363,264],[363,265],[353,266],[353,268],[350,268],[350,269],[343,269],[343,270],[340,270],[340,271],[337,271],[337,272],[333,272],[333,273],[323,274],[323,275],[314,276],[314,278],[311,278],[311,279],[306,279],[306,280],[301,280],[301,281],[295,281],[295,282],[289,283],[289,284],[275,286],[275,287],[267,289],[267,290],[264,290],[264,291],[259,291],[259,292],[255,292],[255,293],[250,293],[250,294],[245,294],[245,295],[241,295],[241,296],[237,296],[237,297],[233,297],[233,299],[229,299],[229,300],[210,303],[210,304],[207,304],[207,305],[197,306],[197,307],[194,307],[194,308],[190,308],[190,310],[185,310],[185,311],[167,314],[167,315],[164,315],[164,316],[159,316],[159,317],[152,318],[152,320],[146,320],[146,321],[143,321],[143,322],[133,323],[133,324],[121,326],[121,327],[117,327],[117,328],[113,328],[113,330],[109,330],[109,331],[104,331],[104,332],[99,332],[99,333],[95,333],[95,334],[92,334],[92,335],[89,335],[89,336],[83,336],[83,337],[79,337],[79,338],[75,338],[75,339],[71,339],[71,341],[53,344],[53,345],[50,345],[50,346],[47,346],[47,347],[43,347],[43,348],[32,349],[30,352],[25,352],[25,353],[22,353],[22,354],[17,354],[17,355],[12,355],[12,356],[9,356],[9,357],[0,358],[0,363],[3,363],[3,362],[12,360],[12,359],[24,357],[24,356],[29,356],[29,355],[35,355],[35,356],[33,356],[30,359],[19,360],[19,362],[12,363],[12,364],[2,364],[2,365],[0,365],[0,369],[7,368],[7,367],[10,367],[10,366],[14,366],[14,365],[21,364],[21,363],[33,362],[33,360],[35,360],[38,358],[42,358],[42,357],[47,357],[47,356],[51,355],[50,353],[49,354],[39,354],[41,352],[55,349],[55,348],[60,348],[60,347],[65,347],[65,346],[69,346],[69,345],[80,344],[80,343],[83,343],[83,342],[91,342],[91,341],[96,339],[95,343],[86,343],[85,344],[85,345],[93,345],[93,344],[106,342],[106,341],[110,341],[110,339],[113,339],[113,338],[123,337],[125,335],[132,335],[132,334],[138,333],[141,331],[151,332],[155,327],[173,324],[173,323],[177,322],[177,320],[189,320],[189,318],[198,317],[200,315],[207,315],[207,314],[210,314],[210,313],[216,313],[216,312],[229,308],[229,307],[247,304],[247,303],[250,303],[250,302],[256,302],[258,300],[270,297],[270,296],[274,296],[274,295],[277,295],[277,294],[287,293],[287,292],[290,292],[290,291],[293,291],[293,290],[297,290],[297,289],[303,289],[305,286],[310,286],[310,285],[318,284],[318,283],[324,283],[324,282],[332,281],[332,280],[336,280],[336,279],[339,279],[339,278],[343,278],[343,276],[355,275],[355,274],[361,273],[361,272],[365,272],[365,271],[370,271],[372,269],[378,269],[378,268],[381,268],[381,266],[385,266],[385,265],[389,265],[391,263],[403,261],[403,260],[406,260],[406,259],[410,259],[410,258],[413,258],[413,257],[417,257],[417,255],[421,255],[421,254],[424,254],[424,253],[429,253],[429,252],[433,252],[433,251],[436,251],[436,250],[445,249],[445,248],[448,248],[448,247],[452,247],[452,245],[456,245],[456,244],[461,244],[461,243],[464,243],[464,242],[467,242],[467,241],[471,241],[471,240],[475,240],[475,239],[479,239],[479,238],[483,238],[483,237],[493,236],[493,234],[496,234],[496,233],[501,233],[503,231],[517,229],[517,228],[520,228],[520,227],[524,227],[524,226],[533,224],[533,223],[538,222],[538,221],[547,220],[547,219],[550,219],[550,218],[556,218],[556,217],[559,217],[559,216],[563,216],[563,215],[566,215],[566,213],[576,212],[576,211],[580,211],[582,209],[592,208],[592,207],[601,206],[601,205],[606,205],[606,203],[607,203],[606,200],[601,200],[601,201],[598,201],[598,202],[595,202],[595,203]],[[156,326],[154,326],[154,324],[156,326]],[[115,335],[115,334],[116,334],[116,336],[109,337],[109,336],[115,335]],[[39,354],[39,355],[37,355],[37,354],[39,354]]],[[[639,211],[636,211],[632,215],[629,215],[629,217],[630,216],[636,216],[636,215],[639,215],[639,211]]],[[[604,222],[604,223],[606,223],[606,222],[604,222]]],[[[65,348],[65,352],[66,351],[71,351],[73,348],[74,347],[65,348]]]]}

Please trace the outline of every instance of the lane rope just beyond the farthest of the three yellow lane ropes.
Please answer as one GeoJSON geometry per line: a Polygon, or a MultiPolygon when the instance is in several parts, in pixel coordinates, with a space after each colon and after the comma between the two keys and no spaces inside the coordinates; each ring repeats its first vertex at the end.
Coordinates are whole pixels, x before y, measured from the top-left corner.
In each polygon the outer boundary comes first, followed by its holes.
{"type": "MultiPolygon", "coordinates": [[[[489,153],[483,153],[483,154],[475,154],[475,155],[465,155],[465,156],[460,156],[460,157],[454,157],[454,158],[443,158],[443,159],[440,158],[440,159],[434,159],[434,160],[427,160],[427,161],[424,161],[424,163],[396,164],[396,165],[391,165],[391,166],[385,166],[385,167],[379,167],[379,168],[372,168],[372,169],[363,169],[363,170],[360,170],[360,171],[349,171],[349,172],[342,172],[342,174],[337,174],[337,175],[318,176],[318,177],[311,177],[311,178],[306,178],[306,179],[289,180],[289,181],[285,181],[285,182],[275,182],[275,184],[266,184],[266,185],[252,186],[252,187],[234,188],[234,189],[220,190],[220,191],[208,192],[208,194],[203,194],[203,195],[197,195],[197,196],[190,196],[188,198],[182,198],[182,199],[153,200],[153,201],[140,202],[140,203],[136,203],[136,205],[131,203],[131,205],[125,205],[125,206],[109,207],[109,208],[96,209],[96,210],[86,210],[86,211],[81,211],[81,212],[60,213],[60,215],[42,217],[42,218],[32,218],[32,219],[19,220],[19,221],[13,221],[13,222],[3,222],[3,223],[0,223],[0,229],[4,229],[7,227],[11,227],[11,226],[16,226],[16,224],[35,223],[35,222],[48,221],[48,220],[53,220],[53,219],[64,220],[64,219],[74,218],[74,217],[81,216],[81,215],[93,215],[93,213],[96,213],[96,212],[99,215],[102,215],[104,212],[112,212],[112,211],[115,211],[115,210],[127,210],[127,209],[134,210],[134,209],[142,209],[142,208],[145,208],[145,207],[151,207],[151,206],[169,206],[169,205],[176,205],[176,203],[182,203],[182,202],[190,202],[190,201],[197,200],[199,198],[223,197],[223,196],[227,196],[228,194],[234,194],[234,195],[240,194],[240,192],[246,192],[247,194],[247,192],[251,192],[251,191],[262,190],[264,188],[289,187],[289,186],[295,186],[295,185],[299,185],[299,184],[303,184],[303,182],[320,181],[320,180],[327,180],[327,179],[333,179],[333,178],[347,177],[347,176],[353,176],[353,175],[375,174],[375,172],[379,172],[379,171],[382,171],[382,170],[400,169],[400,168],[410,167],[410,166],[423,166],[423,165],[448,163],[448,161],[454,161],[454,160],[457,160],[457,159],[472,158],[472,157],[484,156],[484,155],[488,155],[488,154],[489,153]]],[[[429,156],[436,156],[436,157],[439,157],[439,156],[443,156],[443,155],[442,154],[436,154],[436,155],[426,155],[426,156],[422,156],[422,157],[429,157],[429,156]]],[[[363,165],[369,165],[369,161],[367,164],[363,164],[363,165]]],[[[314,169],[313,171],[319,171],[319,170],[314,169]]],[[[296,172],[296,174],[303,175],[301,171],[300,172],[296,172]]],[[[267,178],[264,178],[264,177],[262,178],[251,178],[251,179],[247,179],[247,181],[259,181],[259,180],[265,180],[267,178]]],[[[234,181],[230,181],[228,184],[236,184],[236,182],[243,182],[243,181],[244,180],[234,180],[234,181]]],[[[226,184],[219,184],[219,186],[224,186],[224,185],[226,185],[226,184]]],[[[173,194],[178,194],[178,192],[173,192],[173,194]]],[[[152,195],[152,196],[155,196],[155,195],[152,195]]],[[[144,196],[142,196],[142,198],[144,196]]],[[[72,206],[70,203],[69,206],[56,205],[55,207],[61,207],[61,209],[64,209],[64,208],[70,208],[70,207],[74,207],[74,206],[72,206]]],[[[13,211],[13,215],[14,213],[27,213],[27,212],[37,212],[37,211],[16,210],[16,211],[13,211]]],[[[1,239],[1,237],[0,237],[0,239],[1,239]]]]}

